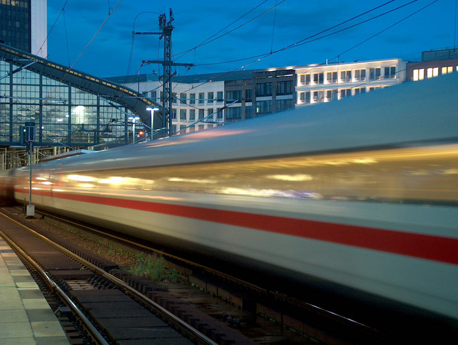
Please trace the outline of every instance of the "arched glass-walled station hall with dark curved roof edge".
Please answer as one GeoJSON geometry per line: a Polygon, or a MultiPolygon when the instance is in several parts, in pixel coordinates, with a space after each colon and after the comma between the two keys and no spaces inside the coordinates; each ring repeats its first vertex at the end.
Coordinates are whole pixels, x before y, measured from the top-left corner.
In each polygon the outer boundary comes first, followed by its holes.
{"type": "MultiPolygon", "coordinates": [[[[135,118],[137,129],[143,126],[150,133],[148,107],[160,105],[134,90],[0,44],[3,168],[8,166],[7,152],[26,148],[26,123],[35,125],[37,149],[110,147],[137,139],[135,118]]],[[[158,111],[154,127],[161,121],[158,111]]]]}

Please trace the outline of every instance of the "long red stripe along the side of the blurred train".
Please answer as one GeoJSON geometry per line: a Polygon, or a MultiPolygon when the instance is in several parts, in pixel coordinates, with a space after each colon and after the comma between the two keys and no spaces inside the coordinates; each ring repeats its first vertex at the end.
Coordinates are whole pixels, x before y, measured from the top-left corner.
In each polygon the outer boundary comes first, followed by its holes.
{"type": "MultiPolygon", "coordinates": [[[[16,191],[17,193],[23,193],[22,190],[16,191]]],[[[458,239],[450,237],[404,233],[401,231],[367,228],[364,226],[259,215],[255,213],[243,213],[196,206],[164,204],[152,201],[50,193],[44,190],[34,190],[33,193],[45,197],[57,197],[60,199],[82,201],[91,204],[116,206],[133,210],[162,213],[164,215],[212,221],[232,226],[241,226],[243,228],[252,228],[272,233],[346,244],[359,248],[408,255],[410,257],[419,257],[421,259],[446,262],[448,264],[458,264],[458,239]]]]}

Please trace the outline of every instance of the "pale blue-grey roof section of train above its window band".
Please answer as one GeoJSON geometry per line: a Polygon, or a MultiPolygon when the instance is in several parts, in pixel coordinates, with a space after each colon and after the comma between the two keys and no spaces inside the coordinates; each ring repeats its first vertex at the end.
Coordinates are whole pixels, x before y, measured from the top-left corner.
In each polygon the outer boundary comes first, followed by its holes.
{"type": "Polygon", "coordinates": [[[169,166],[457,141],[458,75],[44,163],[74,171],[169,166]],[[455,97],[450,97],[455,95],[455,97]],[[440,112],[439,112],[440,111],[440,112]]]}

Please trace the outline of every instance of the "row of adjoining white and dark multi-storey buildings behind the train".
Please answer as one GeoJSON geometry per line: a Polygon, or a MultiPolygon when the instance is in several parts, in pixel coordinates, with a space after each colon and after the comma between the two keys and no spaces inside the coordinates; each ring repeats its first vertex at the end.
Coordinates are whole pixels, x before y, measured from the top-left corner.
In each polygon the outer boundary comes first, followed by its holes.
{"type": "MultiPolygon", "coordinates": [[[[162,102],[157,75],[108,78],[162,102]]],[[[175,77],[172,133],[184,134],[343,99],[406,80],[406,61],[383,59],[175,77]]]]}

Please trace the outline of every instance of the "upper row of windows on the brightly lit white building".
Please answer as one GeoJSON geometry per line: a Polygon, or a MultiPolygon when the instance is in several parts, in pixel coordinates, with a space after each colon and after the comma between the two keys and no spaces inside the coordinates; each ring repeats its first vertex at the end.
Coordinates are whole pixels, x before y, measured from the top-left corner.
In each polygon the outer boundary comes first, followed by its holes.
{"type": "Polygon", "coordinates": [[[305,73],[299,75],[298,85],[315,85],[326,83],[346,83],[377,79],[397,78],[396,66],[362,68],[357,70],[341,70],[332,72],[305,73]],[[383,72],[383,73],[382,73],[383,72]]]}

